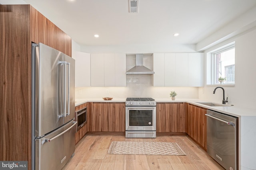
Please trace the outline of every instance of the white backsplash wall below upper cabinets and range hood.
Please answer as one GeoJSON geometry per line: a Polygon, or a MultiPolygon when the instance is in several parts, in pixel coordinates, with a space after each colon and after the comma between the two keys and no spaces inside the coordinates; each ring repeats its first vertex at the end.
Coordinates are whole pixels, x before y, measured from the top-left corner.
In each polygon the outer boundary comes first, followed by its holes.
{"type": "MultiPolygon", "coordinates": [[[[154,87],[152,75],[128,76],[126,87],[82,87],[76,88],[76,99],[91,99],[113,97],[125,99],[127,97],[151,97],[170,99],[170,92],[175,90],[176,99],[198,98],[197,87],[154,87]],[[108,90],[109,94],[106,94],[108,90]]],[[[170,99],[171,100],[171,99],[170,99]]]]}

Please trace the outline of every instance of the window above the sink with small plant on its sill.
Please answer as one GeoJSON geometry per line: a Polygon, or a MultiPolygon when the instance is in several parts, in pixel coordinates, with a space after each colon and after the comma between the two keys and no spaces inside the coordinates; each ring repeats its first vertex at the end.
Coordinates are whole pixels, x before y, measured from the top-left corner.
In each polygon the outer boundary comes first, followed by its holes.
{"type": "Polygon", "coordinates": [[[235,45],[232,43],[207,54],[207,84],[235,83],[235,45]],[[210,73],[210,74],[209,74],[210,73]],[[209,78],[210,76],[210,78],[209,78]],[[220,81],[222,80],[222,81],[220,81]]]}

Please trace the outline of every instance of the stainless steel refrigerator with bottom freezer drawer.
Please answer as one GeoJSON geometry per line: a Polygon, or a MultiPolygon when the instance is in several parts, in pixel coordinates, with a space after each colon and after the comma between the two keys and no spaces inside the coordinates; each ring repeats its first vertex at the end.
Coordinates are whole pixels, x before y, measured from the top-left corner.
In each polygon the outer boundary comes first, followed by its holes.
{"type": "Polygon", "coordinates": [[[60,170],[75,148],[75,60],[32,43],[32,169],[60,170]]]}

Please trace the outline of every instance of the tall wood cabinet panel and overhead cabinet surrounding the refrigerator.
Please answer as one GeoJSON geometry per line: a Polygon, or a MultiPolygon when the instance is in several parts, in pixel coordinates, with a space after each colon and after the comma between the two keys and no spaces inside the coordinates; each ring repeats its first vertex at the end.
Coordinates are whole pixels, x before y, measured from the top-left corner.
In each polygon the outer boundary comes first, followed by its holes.
{"type": "Polygon", "coordinates": [[[71,57],[71,38],[30,5],[0,5],[0,160],[31,169],[31,42],[71,57]]]}

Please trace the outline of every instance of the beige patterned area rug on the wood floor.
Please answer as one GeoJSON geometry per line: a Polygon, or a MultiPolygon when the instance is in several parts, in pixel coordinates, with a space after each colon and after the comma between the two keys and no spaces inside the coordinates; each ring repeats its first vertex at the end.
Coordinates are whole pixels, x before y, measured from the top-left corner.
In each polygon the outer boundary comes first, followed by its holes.
{"type": "Polygon", "coordinates": [[[112,141],[108,154],[186,155],[177,143],[112,141]]]}

